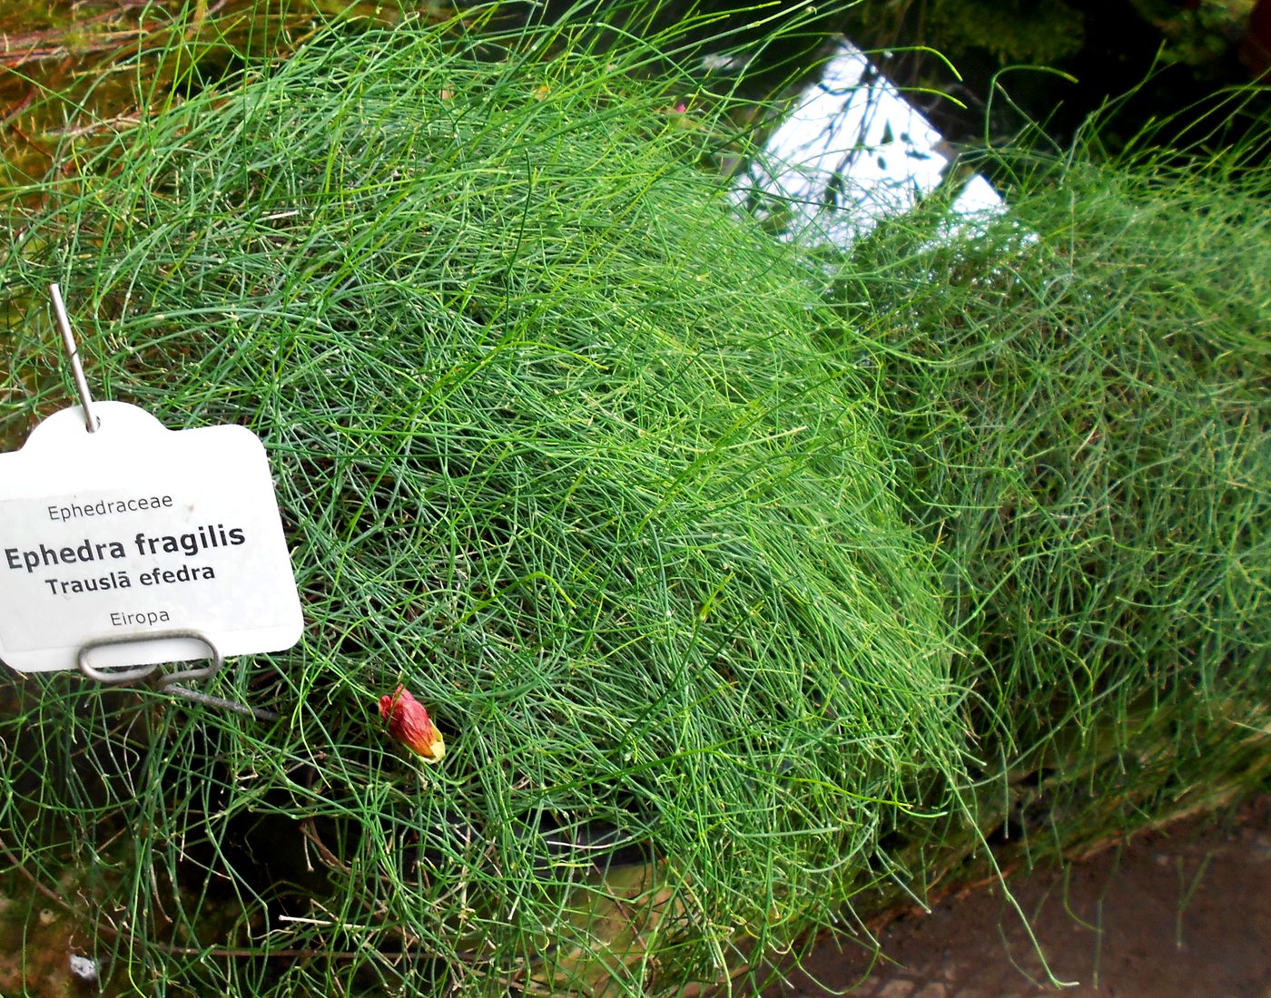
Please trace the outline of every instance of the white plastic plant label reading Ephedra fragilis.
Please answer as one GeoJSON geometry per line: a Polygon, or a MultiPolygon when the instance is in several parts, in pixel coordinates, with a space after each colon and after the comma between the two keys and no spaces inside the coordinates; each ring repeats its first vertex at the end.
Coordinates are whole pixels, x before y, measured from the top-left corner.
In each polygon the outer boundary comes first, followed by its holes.
{"type": "Polygon", "coordinates": [[[64,409],[0,455],[0,659],[20,672],[281,651],[302,616],[273,481],[244,427],[169,430],[125,403],[64,409]]]}

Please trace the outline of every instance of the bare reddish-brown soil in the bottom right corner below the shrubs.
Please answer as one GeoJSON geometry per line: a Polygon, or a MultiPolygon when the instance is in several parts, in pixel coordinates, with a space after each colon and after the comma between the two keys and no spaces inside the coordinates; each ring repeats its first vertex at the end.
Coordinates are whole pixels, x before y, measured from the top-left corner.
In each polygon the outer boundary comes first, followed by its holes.
{"type": "MultiPolygon", "coordinates": [[[[1271,796],[1012,877],[1070,998],[1271,998],[1271,796]]],[[[1057,994],[1000,888],[906,914],[872,947],[822,942],[765,998],[1057,994]],[[871,970],[871,964],[873,968],[871,970]]]]}

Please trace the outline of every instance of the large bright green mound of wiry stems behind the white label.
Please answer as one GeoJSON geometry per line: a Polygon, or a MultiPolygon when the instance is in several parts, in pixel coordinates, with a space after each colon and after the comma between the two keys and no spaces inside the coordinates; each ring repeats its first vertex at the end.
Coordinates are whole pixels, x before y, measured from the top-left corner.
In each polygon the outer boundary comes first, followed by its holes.
{"type": "Polygon", "coordinates": [[[306,615],[219,679],[272,726],[5,681],[0,838],[116,987],[674,993],[948,806],[930,564],[796,251],[642,50],[540,41],[328,37],[11,204],[5,430],[67,400],[60,279],[100,395],[264,438],[306,615]]]}

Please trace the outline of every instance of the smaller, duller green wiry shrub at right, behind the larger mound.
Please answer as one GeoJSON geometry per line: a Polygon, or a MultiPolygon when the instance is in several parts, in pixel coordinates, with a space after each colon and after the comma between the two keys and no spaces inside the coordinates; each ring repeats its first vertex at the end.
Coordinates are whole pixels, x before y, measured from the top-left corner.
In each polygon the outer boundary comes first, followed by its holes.
{"type": "Polygon", "coordinates": [[[1271,184],[1254,151],[993,154],[1005,216],[937,235],[933,203],[840,269],[850,357],[867,334],[905,503],[975,649],[956,675],[979,705],[980,820],[1042,832],[1030,848],[1271,772],[1271,184]]]}

